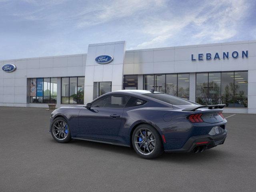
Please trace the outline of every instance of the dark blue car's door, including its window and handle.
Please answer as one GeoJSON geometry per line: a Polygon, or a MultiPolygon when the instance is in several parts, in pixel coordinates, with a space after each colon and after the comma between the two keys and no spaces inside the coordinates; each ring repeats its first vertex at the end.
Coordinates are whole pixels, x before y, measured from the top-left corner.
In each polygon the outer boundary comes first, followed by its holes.
{"type": "Polygon", "coordinates": [[[94,101],[90,109],[83,108],[78,117],[80,136],[116,139],[128,99],[129,96],[111,94],[94,101]]]}

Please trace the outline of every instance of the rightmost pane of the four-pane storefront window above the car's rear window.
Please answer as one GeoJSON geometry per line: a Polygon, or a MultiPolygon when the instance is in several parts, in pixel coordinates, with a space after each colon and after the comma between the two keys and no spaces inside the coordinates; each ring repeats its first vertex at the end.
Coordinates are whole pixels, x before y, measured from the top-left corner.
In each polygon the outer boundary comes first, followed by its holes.
{"type": "Polygon", "coordinates": [[[178,74],[177,96],[189,100],[189,74],[178,74]]]}

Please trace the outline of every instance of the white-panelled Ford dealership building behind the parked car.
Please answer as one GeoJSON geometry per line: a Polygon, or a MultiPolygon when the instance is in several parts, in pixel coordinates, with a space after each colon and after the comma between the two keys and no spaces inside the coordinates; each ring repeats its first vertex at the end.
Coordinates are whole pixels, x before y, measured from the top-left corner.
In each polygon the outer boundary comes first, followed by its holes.
{"type": "Polygon", "coordinates": [[[153,89],[224,112],[256,113],[256,40],[125,50],[90,44],[87,54],[0,61],[0,106],[86,104],[110,91],[153,89]]]}

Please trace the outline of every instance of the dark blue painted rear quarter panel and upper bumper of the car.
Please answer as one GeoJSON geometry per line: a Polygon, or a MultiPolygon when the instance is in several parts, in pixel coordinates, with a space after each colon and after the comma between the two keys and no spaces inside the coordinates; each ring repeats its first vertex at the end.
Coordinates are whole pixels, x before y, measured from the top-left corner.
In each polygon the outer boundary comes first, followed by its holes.
{"type": "MultiPolygon", "coordinates": [[[[209,113],[212,111],[209,111],[209,113]]],[[[164,149],[179,149],[192,136],[204,135],[210,132],[212,126],[226,124],[226,120],[218,123],[195,123],[192,125],[187,116],[198,112],[184,112],[171,107],[125,108],[119,136],[122,142],[130,144],[130,134],[134,127],[147,123],[156,128],[159,134],[165,136],[164,149]]]]}

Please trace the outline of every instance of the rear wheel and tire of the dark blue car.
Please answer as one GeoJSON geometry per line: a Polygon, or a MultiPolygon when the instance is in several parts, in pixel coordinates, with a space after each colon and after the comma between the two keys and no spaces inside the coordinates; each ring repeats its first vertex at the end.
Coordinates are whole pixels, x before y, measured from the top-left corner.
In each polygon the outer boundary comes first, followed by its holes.
{"type": "Polygon", "coordinates": [[[135,152],[145,159],[156,158],[164,152],[160,134],[148,124],[140,124],[135,128],[132,133],[132,146],[135,152]]]}

